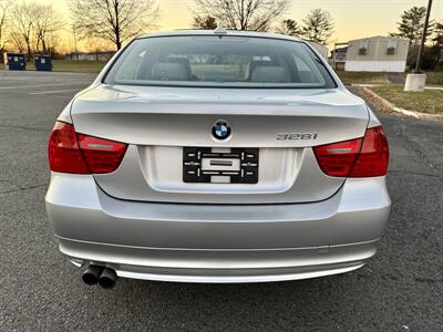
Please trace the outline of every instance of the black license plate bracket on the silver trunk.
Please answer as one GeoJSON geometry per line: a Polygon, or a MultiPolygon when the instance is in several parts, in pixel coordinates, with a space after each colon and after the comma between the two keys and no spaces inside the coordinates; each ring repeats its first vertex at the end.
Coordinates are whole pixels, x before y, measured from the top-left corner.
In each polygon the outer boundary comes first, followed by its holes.
{"type": "Polygon", "coordinates": [[[230,148],[217,152],[210,147],[183,148],[184,183],[218,183],[224,177],[228,184],[258,183],[258,148],[230,148]]]}

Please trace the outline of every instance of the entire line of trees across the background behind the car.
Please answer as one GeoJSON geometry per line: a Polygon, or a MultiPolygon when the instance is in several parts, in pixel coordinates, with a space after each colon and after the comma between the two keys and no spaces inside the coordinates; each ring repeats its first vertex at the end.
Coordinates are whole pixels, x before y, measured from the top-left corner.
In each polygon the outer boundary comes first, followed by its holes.
{"type": "MultiPolygon", "coordinates": [[[[133,37],[155,29],[161,10],[157,0],[69,0],[70,23],[51,4],[0,0],[0,53],[9,49],[32,53],[55,52],[61,33],[74,40],[103,40],[119,50],[133,37]]],[[[328,44],[334,22],[330,12],[311,10],[297,22],[285,18],[289,0],[194,0],[194,29],[226,29],[268,31],[328,44]]],[[[411,41],[410,61],[414,59],[424,25],[426,9],[405,10],[398,22],[395,37],[411,41]]],[[[425,65],[441,63],[443,59],[443,22],[432,21],[427,30],[425,65]]]]}

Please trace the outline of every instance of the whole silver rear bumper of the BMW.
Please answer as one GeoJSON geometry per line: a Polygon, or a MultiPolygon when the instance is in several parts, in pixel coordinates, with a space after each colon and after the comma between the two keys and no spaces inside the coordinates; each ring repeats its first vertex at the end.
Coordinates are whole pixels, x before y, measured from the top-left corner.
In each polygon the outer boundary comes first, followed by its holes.
{"type": "Polygon", "coordinates": [[[364,264],[390,212],[383,177],[350,179],[295,205],[183,205],[114,199],[91,176],[53,174],[47,210],[60,250],[119,276],[187,282],[321,277],[364,264]]]}

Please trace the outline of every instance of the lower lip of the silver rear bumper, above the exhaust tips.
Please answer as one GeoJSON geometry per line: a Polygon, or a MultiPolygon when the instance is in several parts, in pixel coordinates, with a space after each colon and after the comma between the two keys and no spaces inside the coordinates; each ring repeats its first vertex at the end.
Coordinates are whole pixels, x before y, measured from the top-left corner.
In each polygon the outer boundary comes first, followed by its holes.
{"type": "Polygon", "coordinates": [[[176,282],[266,282],[323,277],[358,269],[375,241],[286,250],[165,250],[78,242],[59,238],[76,266],[95,262],[119,277],[176,282]],[[81,259],[79,259],[81,258],[81,259]]]}

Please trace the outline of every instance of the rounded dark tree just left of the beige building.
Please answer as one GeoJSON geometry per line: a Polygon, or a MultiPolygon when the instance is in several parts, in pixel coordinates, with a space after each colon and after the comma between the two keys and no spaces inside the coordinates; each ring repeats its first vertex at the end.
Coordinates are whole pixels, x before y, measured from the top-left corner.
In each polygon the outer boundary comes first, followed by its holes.
{"type": "Polygon", "coordinates": [[[313,9],[303,19],[301,34],[305,39],[326,44],[333,32],[333,19],[329,11],[313,9]]]}

